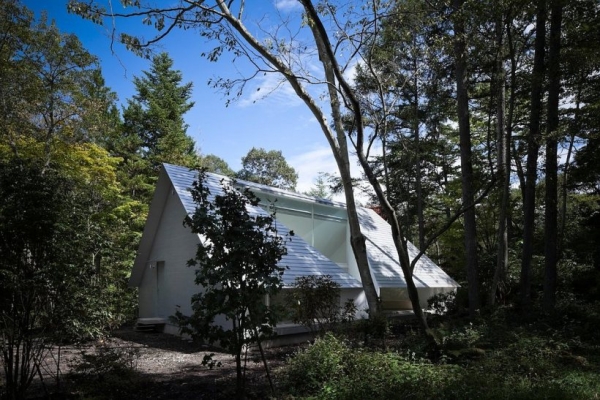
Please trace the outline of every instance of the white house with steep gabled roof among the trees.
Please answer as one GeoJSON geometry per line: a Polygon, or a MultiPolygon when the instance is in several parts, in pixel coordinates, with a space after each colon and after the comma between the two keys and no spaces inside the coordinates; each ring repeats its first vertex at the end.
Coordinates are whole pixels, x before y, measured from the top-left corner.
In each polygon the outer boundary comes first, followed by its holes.
{"type": "MultiPolygon", "coordinates": [[[[194,284],[194,268],[187,267],[196,247],[198,235],[183,225],[186,215],[196,206],[189,189],[197,174],[188,168],[165,164],[160,172],[150,212],[144,228],[137,257],[130,278],[130,286],[139,288],[139,318],[141,322],[165,324],[165,331],[177,333],[178,328],[168,322],[168,317],[179,307],[191,314],[190,299],[200,287],[194,284]]],[[[228,178],[207,174],[206,184],[211,194],[221,192],[221,180],[228,178]]],[[[261,207],[251,212],[266,213],[275,205],[278,231],[285,235],[294,231],[287,242],[288,253],[280,264],[284,272],[284,290],[297,276],[330,275],[341,287],[341,303],[353,299],[359,310],[367,304],[360,275],[350,246],[350,232],[346,207],[343,203],[316,199],[299,193],[236,181],[239,187],[248,187],[261,199],[261,207]],[[276,202],[275,202],[276,200],[276,202]]],[[[389,224],[373,210],[358,210],[371,274],[384,309],[407,310],[411,308],[406,282],[397,260],[396,249],[389,224]]],[[[411,257],[418,250],[409,243],[411,257]]],[[[458,284],[427,256],[423,255],[415,268],[414,279],[419,290],[421,307],[427,300],[441,292],[448,292],[458,284]]],[[[226,324],[226,321],[216,321],[226,324]]],[[[280,327],[279,333],[294,329],[280,327]]]]}

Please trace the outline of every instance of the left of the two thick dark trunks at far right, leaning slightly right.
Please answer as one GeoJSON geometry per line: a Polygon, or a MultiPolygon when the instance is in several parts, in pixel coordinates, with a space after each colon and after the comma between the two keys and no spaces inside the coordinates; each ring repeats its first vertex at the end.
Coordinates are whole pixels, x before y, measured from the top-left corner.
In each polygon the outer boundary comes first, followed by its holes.
{"type": "Polygon", "coordinates": [[[531,77],[531,116],[527,137],[527,171],[523,198],[523,255],[521,261],[521,306],[528,313],[531,306],[531,261],[533,257],[533,233],[535,230],[535,186],[540,148],[540,119],[544,84],[544,53],[546,46],[546,1],[537,5],[535,31],[535,55],[531,77]]]}

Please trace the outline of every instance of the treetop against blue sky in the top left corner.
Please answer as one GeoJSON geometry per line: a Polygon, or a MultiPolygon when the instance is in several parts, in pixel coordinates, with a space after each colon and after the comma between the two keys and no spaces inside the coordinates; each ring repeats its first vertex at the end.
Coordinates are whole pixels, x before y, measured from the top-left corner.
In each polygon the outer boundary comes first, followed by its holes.
{"type": "Polygon", "coordinates": [[[44,144],[39,157],[49,165],[55,140],[82,143],[106,129],[92,123],[114,104],[97,59],[75,35],[62,34],[44,15],[36,23],[14,1],[0,1],[0,67],[0,140],[16,157],[29,138],[44,144]]]}

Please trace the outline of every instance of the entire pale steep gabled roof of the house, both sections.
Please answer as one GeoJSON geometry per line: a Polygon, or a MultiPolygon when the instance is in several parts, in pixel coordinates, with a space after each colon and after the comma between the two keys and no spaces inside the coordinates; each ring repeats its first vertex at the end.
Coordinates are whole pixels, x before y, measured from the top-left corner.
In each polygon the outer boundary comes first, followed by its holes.
{"type": "MultiPolygon", "coordinates": [[[[194,213],[196,205],[192,199],[190,188],[197,178],[196,171],[185,167],[179,167],[171,164],[164,164],[161,171],[159,181],[144,234],[140,243],[138,256],[134,263],[134,268],[131,274],[130,285],[138,286],[141,283],[143,266],[148,260],[151,246],[154,241],[154,234],[158,227],[162,209],[165,204],[166,193],[170,191],[172,185],[173,190],[177,193],[185,212],[188,215],[194,213]]],[[[211,195],[215,196],[222,193],[221,182],[231,183],[231,179],[216,175],[207,174],[206,184],[208,185],[211,195]]],[[[286,190],[273,188],[270,186],[260,185],[253,182],[235,181],[236,186],[247,187],[256,192],[273,194],[284,198],[293,198],[309,203],[324,204],[338,209],[345,209],[344,203],[335,202],[327,199],[318,199],[306,196],[299,193],[289,192],[286,190]]],[[[257,215],[266,215],[261,207],[252,207],[250,210],[257,215]]],[[[406,281],[402,269],[398,262],[396,248],[392,238],[390,225],[377,213],[371,209],[358,208],[359,222],[362,233],[366,237],[367,252],[371,273],[379,288],[404,288],[406,281]]],[[[276,221],[277,229],[282,235],[287,235],[289,229],[283,224],[276,221]]],[[[331,275],[333,280],[346,288],[361,288],[359,280],[352,277],[344,269],[336,263],[329,260],[314,247],[310,246],[306,241],[298,236],[294,236],[291,242],[287,243],[288,254],[281,260],[281,265],[287,266],[289,269],[284,273],[284,284],[290,286],[294,283],[296,277],[307,275],[331,275]]],[[[410,242],[408,242],[408,252],[411,260],[419,253],[419,250],[410,242]]],[[[439,287],[458,287],[459,285],[450,278],[438,265],[436,265],[429,257],[423,255],[414,270],[413,277],[417,287],[439,288],[439,287]]]]}

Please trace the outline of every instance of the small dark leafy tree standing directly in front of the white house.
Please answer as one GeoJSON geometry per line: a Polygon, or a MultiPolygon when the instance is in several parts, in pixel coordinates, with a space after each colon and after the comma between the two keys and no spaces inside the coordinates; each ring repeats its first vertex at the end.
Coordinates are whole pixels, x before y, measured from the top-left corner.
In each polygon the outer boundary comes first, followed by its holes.
{"type": "MultiPolygon", "coordinates": [[[[286,254],[285,238],[278,235],[271,215],[251,214],[259,199],[248,189],[239,192],[222,180],[222,191],[211,193],[203,171],[193,183],[196,211],[185,225],[201,235],[196,257],[188,262],[198,267],[192,297],[191,316],[176,313],[183,333],[210,344],[219,342],[234,357],[237,394],[243,397],[245,361],[248,346],[273,333],[277,313],[265,303],[283,287],[284,267],[278,262],[286,254]],[[209,197],[214,200],[209,200],[209,197]],[[228,326],[215,324],[224,316],[228,326]]],[[[266,360],[265,368],[267,368],[266,360]]],[[[267,369],[268,373],[268,369],[267,369]]],[[[270,379],[270,378],[269,378],[270,379]]]]}

